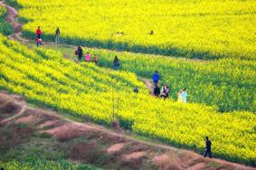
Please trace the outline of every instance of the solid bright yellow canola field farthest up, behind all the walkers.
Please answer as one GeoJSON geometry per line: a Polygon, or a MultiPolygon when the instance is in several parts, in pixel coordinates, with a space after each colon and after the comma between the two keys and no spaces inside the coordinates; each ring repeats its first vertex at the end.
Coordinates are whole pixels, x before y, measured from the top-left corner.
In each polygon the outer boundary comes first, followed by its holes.
{"type": "Polygon", "coordinates": [[[199,59],[256,59],[254,0],[7,0],[23,33],[53,41],[199,59]],[[151,30],[153,34],[150,34],[151,30]]]}

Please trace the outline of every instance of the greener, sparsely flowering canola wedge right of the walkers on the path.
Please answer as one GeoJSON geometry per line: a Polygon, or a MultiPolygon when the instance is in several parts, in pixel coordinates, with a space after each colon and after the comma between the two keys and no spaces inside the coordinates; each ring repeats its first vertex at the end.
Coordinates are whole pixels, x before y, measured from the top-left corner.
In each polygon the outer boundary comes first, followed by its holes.
{"type": "MultiPolygon", "coordinates": [[[[62,48],[52,48],[61,50],[62,48]]],[[[73,49],[65,50],[72,56],[73,49]]],[[[159,71],[162,80],[170,87],[170,98],[176,99],[177,91],[186,88],[188,100],[216,106],[219,111],[247,110],[256,112],[256,62],[234,59],[217,61],[193,61],[159,55],[132,52],[113,52],[102,49],[87,49],[85,52],[97,54],[100,64],[112,68],[115,55],[119,56],[121,71],[135,72],[151,79],[154,71],[159,71]]]]}

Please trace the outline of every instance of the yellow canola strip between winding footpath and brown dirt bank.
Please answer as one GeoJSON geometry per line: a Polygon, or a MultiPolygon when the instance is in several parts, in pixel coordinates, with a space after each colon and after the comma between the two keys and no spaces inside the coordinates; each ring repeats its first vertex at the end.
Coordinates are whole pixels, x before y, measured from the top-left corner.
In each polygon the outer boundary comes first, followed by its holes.
{"type": "Polygon", "coordinates": [[[31,103],[100,124],[109,125],[115,118],[137,134],[201,152],[209,136],[214,156],[255,165],[256,116],[251,112],[220,113],[204,104],[156,99],[134,73],[77,64],[60,52],[28,49],[3,36],[0,48],[0,88],[31,103]],[[132,91],[136,86],[138,94],[132,91]],[[112,99],[119,101],[115,114],[112,99]]]}

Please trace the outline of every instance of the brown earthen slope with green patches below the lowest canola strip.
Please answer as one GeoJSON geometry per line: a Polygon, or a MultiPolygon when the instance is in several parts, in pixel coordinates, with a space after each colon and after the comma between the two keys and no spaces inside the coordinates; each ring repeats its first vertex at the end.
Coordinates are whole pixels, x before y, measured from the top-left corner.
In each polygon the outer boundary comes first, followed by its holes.
{"type": "Polygon", "coordinates": [[[6,169],[252,169],[74,122],[63,113],[31,108],[5,91],[0,113],[0,158],[9,161],[0,161],[0,167],[6,169]]]}

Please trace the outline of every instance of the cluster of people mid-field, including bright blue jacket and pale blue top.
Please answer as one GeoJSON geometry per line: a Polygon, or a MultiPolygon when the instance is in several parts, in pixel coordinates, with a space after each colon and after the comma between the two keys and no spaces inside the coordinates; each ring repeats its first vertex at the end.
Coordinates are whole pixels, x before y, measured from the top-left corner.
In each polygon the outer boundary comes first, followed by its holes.
{"type": "MultiPolygon", "coordinates": [[[[163,84],[162,88],[160,89],[158,81],[160,80],[160,75],[158,71],[155,71],[153,76],[152,76],[152,81],[154,82],[154,90],[153,90],[153,95],[156,97],[161,97],[161,98],[168,98],[170,89],[166,85],[166,83],[163,84]]],[[[180,90],[177,92],[177,100],[181,102],[186,102],[187,100],[187,91],[186,89],[180,90]]]]}

